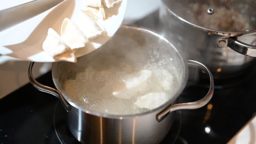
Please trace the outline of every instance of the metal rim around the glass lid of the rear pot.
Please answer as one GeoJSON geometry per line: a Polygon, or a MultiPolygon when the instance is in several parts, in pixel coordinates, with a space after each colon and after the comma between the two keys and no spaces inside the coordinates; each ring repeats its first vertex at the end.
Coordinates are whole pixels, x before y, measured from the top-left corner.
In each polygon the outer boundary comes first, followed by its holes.
{"type": "MultiPolygon", "coordinates": [[[[178,18],[179,20],[187,23],[190,26],[193,26],[194,28],[199,28],[201,30],[207,31],[208,33],[211,34],[215,34],[215,35],[220,35],[220,36],[249,36],[249,35],[254,35],[256,34],[256,29],[254,30],[250,30],[250,31],[236,31],[236,32],[232,32],[232,31],[222,31],[222,30],[215,30],[215,29],[211,29],[211,28],[205,28],[205,27],[201,27],[198,26],[194,23],[191,23],[183,18],[181,18],[178,14],[176,14],[175,12],[173,12],[164,2],[164,0],[161,0],[161,3],[164,5],[164,8],[167,10],[167,12],[169,12],[169,14],[174,15],[176,18],[178,18]]],[[[211,35],[209,34],[209,35],[211,35]]]]}

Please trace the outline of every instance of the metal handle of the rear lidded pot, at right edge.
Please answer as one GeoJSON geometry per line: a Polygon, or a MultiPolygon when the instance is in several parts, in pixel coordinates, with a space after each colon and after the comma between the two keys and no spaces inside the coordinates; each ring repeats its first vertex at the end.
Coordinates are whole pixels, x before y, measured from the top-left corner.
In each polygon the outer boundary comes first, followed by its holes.
{"type": "Polygon", "coordinates": [[[219,38],[217,45],[218,47],[230,47],[241,54],[256,57],[256,46],[241,42],[237,40],[237,37],[219,38]]]}

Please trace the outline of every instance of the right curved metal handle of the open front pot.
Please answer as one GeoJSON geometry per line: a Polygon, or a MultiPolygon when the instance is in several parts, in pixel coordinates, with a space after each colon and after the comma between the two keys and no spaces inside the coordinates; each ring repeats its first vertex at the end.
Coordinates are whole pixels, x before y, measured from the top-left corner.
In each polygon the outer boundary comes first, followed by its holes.
{"type": "Polygon", "coordinates": [[[176,110],[180,110],[180,109],[201,108],[201,107],[205,106],[212,99],[212,95],[213,95],[213,92],[214,92],[214,81],[213,81],[213,76],[212,76],[211,71],[204,64],[202,64],[200,62],[197,62],[197,61],[194,61],[194,60],[187,60],[187,62],[188,62],[188,66],[190,66],[190,67],[191,66],[198,66],[198,67],[200,67],[200,69],[202,69],[203,71],[205,71],[208,74],[208,76],[210,77],[210,90],[204,96],[204,98],[202,98],[201,100],[194,101],[194,102],[188,102],[188,103],[174,104],[174,105],[171,105],[171,106],[165,108],[162,112],[157,114],[156,120],[158,122],[163,120],[172,111],[176,111],[176,110]]]}

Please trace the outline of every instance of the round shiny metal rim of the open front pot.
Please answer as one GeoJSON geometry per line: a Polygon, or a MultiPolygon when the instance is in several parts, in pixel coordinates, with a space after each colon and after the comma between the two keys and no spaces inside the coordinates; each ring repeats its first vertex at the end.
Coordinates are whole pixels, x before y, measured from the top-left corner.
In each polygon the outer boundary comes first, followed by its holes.
{"type": "Polygon", "coordinates": [[[73,107],[75,107],[75,108],[77,108],[77,109],[79,109],[79,110],[81,110],[81,111],[83,111],[83,112],[85,112],[87,114],[91,114],[91,115],[94,115],[94,116],[105,117],[105,118],[112,118],[112,119],[127,119],[127,118],[135,118],[135,117],[138,117],[138,116],[144,116],[144,115],[147,115],[147,114],[150,114],[150,113],[155,113],[155,112],[158,113],[158,112],[162,111],[164,108],[167,108],[169,105],[171,105],[176,99],[178,99],[178,97],[180,96],[181,92],[184,90],[184,88],[185,88],[185,86],[187,84],[187,81],[188,81],[188,64],[187,64],[187,60],[177,50],[177,48],[172,43],[170,43],[167,39],[165,39],[161,35],[158,35],[154,31],[148,30],[148,28],[146,29],[146,28],[143,28],[143,27],[135,27],[135,26],[129,26],[129,25],[123,25],[120,28],[126,28],[126,29],[133,29],[133,30],[140,30],[140,31],[143,31],[143,32],[148,32],[151,35],[159,37],[159,39],[161,39],[161,40],[165,41],[166,43],[170,44],[171,47],[173,47],[173,49],[177,52],[177,55],[180,58],[181,63],[184,66],[184,79],[180,83],[179,89],[175,92],[174,96],[170,100],[168,100],[162,106],[160,106],[158,108],[155,108],[155,109],[152,109],[150,111],[144,112],[144,113],[133,114],[133,115],[109,115],[109,114],[105,114],[105,113],[102,113],[102,112],[96,112],[96,111],[88,109],[88,108],[83,108],[83,107],[81,108],[81,107],[79,107],[79,105],[75,101],[73,101],[73,100],[71,100],[69,98],[69,96],[66,94],[64,89],[61,87],[58,78],[56,77],[56,69],[57,69],[57,65],[58,65],[59,62],[52,63],[52,80],[53,80],[53,83],[54,83],[55,87],[57,88],[57,90],[62,94],[64,99],[70,105],[72,105],[73,107]]]}

